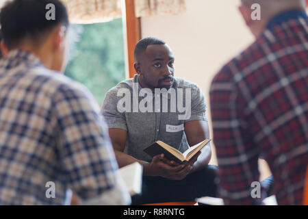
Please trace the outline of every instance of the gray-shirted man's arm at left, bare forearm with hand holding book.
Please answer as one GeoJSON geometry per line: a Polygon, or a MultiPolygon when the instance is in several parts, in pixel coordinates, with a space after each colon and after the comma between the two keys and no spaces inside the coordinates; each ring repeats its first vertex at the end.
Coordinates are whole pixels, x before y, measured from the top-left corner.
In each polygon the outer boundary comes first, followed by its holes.
{"type": "Polygon", "coordinates": [[[183,179],[191,167],[188,165],[169,165],[166,164],[163,155],[157,155],[153,157],[151,162],[144,162],[140,159],[136,159],[131,155],[124,153],[125,143],[127,139],[127,131],[123,129],[109,129],[110,139],[116,154],[116,160],[120,167],[138,162],[143,166],[143,175],[146,176],[159,176],[167,179],[180,180],[183,179]]]}

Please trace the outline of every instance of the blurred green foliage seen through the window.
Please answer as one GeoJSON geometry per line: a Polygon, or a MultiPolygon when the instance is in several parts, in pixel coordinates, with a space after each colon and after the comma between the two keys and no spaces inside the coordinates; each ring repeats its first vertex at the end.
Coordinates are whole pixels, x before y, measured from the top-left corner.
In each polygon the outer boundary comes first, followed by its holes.
{"type": "Polygon", "coordinates": [[[101,105],[110,88],[125,79],[122,20],[70,26],[65,75],[83,83],[101,105]]]}

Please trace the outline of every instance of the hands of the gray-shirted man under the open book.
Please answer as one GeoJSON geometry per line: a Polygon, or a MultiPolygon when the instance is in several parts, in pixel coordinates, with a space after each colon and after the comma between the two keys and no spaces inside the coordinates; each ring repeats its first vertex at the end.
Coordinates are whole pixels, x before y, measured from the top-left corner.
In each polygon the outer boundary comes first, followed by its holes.
{"type": "Polygon", "coordinates": [[[149,164],[151,175],[173,180],[184,179],[190,170],[192,170],[192,166],[189,164],[177,164],[175,162],[172,165],[168,164],[164,154],[156,155],[149,164]]]}

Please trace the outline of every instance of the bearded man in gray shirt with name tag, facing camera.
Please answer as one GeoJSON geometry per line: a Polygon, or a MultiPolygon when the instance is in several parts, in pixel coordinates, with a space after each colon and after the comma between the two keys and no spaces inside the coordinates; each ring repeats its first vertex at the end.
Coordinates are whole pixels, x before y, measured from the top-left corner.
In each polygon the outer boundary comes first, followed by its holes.
{"type": "Polygon", "coordinates": [[[139,162],[144,169],[142,195],[133,204],[216,196],[209,144],[183,164],[144,152],[160,140],[183,153],[209,138],[200,88],[174,77],[175,57],[163,40],[140,40],[135,61],[138,74],[107,92],[102,108],[119,166],[139,162]]]}

